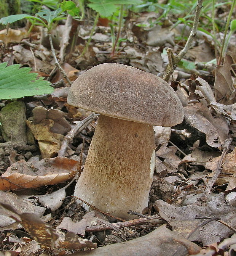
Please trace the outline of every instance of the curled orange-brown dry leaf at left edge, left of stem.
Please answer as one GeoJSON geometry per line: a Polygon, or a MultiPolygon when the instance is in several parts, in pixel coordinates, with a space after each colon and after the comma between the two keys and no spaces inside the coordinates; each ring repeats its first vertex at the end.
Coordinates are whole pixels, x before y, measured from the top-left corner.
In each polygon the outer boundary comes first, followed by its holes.
{"type": "Polygon", "coordinates": [[[45,158],[35,164],[21,160],[0,176],[0,189],[36,188],[64,182],[75,176],[77,164],[73,159],[59,156],[45,158]]]}

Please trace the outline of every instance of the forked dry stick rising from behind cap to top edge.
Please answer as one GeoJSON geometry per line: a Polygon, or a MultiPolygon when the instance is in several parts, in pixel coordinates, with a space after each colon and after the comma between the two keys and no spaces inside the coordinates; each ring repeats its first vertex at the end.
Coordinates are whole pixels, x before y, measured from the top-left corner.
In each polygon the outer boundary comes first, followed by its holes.
{"type": "MultiPolygon", "coordinates": [[[[193,29],[190,32],[190,35],[189,35],[188,40],[185,44],[185,47],[179,52],[179,54],[177,56],[173,55],[174,58],[172,58],[172,66],[171,66],[171,63],[169,63],[168,66],[167,66],[166,74],[163,77],[163,79],[166,82],[169,81],[169,78],[172,74],[172,67],[175,68],[175,65],[177,65],[180,62],[180,60],[183,58],[183,56],[187,53],[187,51],[191,47],[193,39],[197,34],[198,21],[199,21],[199,17],[200,17],[200,13],[201,13],[201,8],[203,8],[202,4],[203,4],[203,0],[198,0],[198,3],[196,5],[195,17],[194,17],[194,21],[193,21],[193,29]]],[[[171,48],[168,48],[167,50],[172,53],[171,48]]]]}

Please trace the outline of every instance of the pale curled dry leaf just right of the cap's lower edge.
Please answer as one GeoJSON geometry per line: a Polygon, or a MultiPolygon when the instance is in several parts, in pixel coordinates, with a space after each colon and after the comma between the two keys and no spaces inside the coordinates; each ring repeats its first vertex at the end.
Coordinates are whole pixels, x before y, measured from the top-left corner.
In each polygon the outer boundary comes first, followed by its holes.
{"type": "Polygon", "coordinates": [[[206,134],[206,142],[211,147],[221,146],[228,137],[225,118],[213,118],[207,106],[200,102],[184,107],[184,116],[191,126],[206,134]]]}

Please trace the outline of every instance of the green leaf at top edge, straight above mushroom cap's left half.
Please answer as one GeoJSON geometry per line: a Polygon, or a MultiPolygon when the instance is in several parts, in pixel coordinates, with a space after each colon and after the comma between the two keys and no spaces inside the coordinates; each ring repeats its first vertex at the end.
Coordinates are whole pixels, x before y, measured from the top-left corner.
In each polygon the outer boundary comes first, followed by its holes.
{"type": "Polygon", "coordinates": [[[99,13],[101,16],[108,17],[115,13],[116,9],[118,8],[117,5],[114,3],[108,3],[105,0],[98,0],[98,1],[90,1],[96,3],[89,3],[88,6],[92,8],[92,10],[99,13]]]}

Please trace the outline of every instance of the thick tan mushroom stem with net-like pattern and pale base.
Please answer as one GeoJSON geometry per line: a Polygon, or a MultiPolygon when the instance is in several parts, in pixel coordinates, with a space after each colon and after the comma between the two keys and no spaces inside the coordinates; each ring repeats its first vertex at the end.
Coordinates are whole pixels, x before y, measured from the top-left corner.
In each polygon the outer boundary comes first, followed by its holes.
{"type": "Polygon", "coordinates": [[[148,205],[154,167],[153,126],[100,115],[75,195],[132,219],[127,211],[142,213],[148,205]]]}

